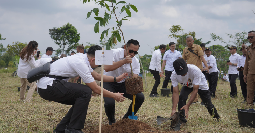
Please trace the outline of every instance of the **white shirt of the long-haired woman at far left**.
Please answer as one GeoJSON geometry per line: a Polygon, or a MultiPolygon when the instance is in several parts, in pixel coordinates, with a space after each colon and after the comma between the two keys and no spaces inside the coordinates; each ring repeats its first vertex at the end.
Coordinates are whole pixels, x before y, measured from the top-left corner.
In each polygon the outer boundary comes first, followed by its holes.
{"type": "Polygon", "coordinates": [[[35,61],[33,54],[30,56],[30,59],[31,60],[28,59],[26,61],[26,56],[24,57],[24,60],[19,58],[18,77],[27,78],[29,70],[40,66],[39,63],[41,59],[35,61]]]}

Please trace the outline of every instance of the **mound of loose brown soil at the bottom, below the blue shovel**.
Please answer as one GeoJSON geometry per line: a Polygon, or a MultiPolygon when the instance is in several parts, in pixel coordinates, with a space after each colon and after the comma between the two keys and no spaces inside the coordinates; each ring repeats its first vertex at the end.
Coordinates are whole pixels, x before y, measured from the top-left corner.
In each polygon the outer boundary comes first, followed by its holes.
{"type": "MultiPolygon", "coordinates": [[[[99,129],[90,133],[99,133],[99,129]]],[[[158,131],[138,120],[122,119],[112,125],[104,125],[101,133],[187,133],[187,131],[158,131]]]]}

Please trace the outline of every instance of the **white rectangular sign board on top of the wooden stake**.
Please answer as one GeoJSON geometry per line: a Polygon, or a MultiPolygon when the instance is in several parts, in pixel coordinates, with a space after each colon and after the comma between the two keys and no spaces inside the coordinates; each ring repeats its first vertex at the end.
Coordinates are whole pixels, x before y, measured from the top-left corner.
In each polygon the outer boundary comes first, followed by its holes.
{"type": "Polygon", "coordinates": [[[113,65],[113,51],[95,51],[95,65],[113,65]]]}

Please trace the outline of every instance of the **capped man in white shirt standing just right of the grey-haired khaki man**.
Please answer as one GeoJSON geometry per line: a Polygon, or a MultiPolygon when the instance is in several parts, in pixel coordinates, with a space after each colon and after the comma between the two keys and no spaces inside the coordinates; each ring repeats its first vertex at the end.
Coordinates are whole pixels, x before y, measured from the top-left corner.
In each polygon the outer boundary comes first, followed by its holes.
{"type": "MultiPolygon", "coordinates": [[[[207,62],[209,72],[208,72],[208,82],[209,82],[209,90],[211,97],[215,97],[215,92],[218,84],[218,67],[215,57],[212,55],[212,51],[210,48],[205,49],[205,54],[207,57],[204,57],[204,59],[207,62]]],[[[203,64],[204,65],[204,64],[203,64]]],[[[205,67],[205,65],[203,66],[205,67]]],[[[205,68],[203,69],[205,71],[205,68]]]]}

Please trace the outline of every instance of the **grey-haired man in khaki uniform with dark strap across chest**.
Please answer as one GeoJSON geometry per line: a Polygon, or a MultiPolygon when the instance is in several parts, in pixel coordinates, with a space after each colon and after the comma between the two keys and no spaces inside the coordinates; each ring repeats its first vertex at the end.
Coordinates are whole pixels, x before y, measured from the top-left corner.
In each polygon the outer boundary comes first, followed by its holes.
{"type": "MultiPolygon", "coordinates": [[[[206,60],[204,59],[204,52],[200,45],[194,44],[194,38],[191,35],[186,37],[187,47],[183,49],[182,58],[187,62],[189,65],[195,65],[201,71],[203,70],[203,63],[205,65],[205,70],[209,72],[209,68],[207,65],[206,60]],[[203,62],[203,63],[202,63],[203,62]]],[[[199,103],[198,96],[194,100],[193,103],[199,103]]]]}

